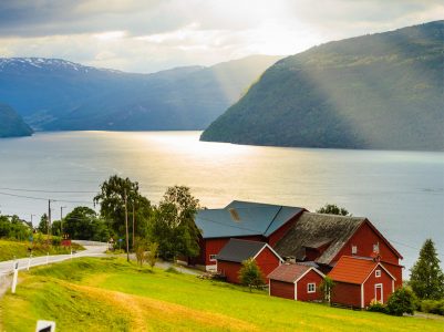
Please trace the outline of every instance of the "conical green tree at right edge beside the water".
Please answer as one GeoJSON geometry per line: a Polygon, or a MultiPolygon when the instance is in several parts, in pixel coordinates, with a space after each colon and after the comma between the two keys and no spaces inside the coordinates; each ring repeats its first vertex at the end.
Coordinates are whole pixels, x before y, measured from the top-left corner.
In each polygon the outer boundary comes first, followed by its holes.
{"type": "Polygon", "coordinates": [[[432,239],[425,240],[420,258],[410,270],[410,286],[421,300],[444,298],[444,273],[432,239]]]}

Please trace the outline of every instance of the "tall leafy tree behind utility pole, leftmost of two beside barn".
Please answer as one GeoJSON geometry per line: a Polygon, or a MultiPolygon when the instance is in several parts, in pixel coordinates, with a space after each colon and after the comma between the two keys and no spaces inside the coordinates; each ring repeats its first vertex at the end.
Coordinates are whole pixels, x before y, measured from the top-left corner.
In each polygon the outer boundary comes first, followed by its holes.
{"type": "MultiPolygon", "coordinates": [[[[130,231],[134,234],[134,237],[146,237],[152,207],[149,200],[141,195],[137,181],[133,183],[130,178],[113,175],[101,185],[94,203],[101,205],[101,216],[109,224],[113,235],[125,237],[125,198],[130,231]],[[132,229],[133,210],[134,229],[132,229]]],[[[130,237],[130,240],[132,238],[130,237]]]]}

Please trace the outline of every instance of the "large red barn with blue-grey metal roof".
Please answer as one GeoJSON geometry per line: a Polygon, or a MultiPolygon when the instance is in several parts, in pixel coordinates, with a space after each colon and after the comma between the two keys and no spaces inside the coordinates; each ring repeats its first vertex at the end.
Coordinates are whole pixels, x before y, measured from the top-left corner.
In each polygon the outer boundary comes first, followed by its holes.
{"type": "Polygon", "coordinates": [[[230,238],[261,241],[273,247],[304,209],[234,200],[223,209],[204,209],[195,218],[202,231],[200,255],[188,264],[216,269],[216,255],[230,238]]]}

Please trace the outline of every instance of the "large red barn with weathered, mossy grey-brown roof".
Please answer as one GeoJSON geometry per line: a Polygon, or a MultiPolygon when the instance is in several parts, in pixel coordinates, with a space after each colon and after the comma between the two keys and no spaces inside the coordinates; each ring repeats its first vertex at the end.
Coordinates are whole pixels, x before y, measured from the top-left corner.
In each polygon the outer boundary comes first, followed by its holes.
{"type": "Polygon", "coordinates": [[[326,274],[342,256],[372,257],[378,252],[395,278],[395,288],[402,286],[401,253],[363,217],[303,211],[273,248],[282,258],[316,262],[326,274]]]}

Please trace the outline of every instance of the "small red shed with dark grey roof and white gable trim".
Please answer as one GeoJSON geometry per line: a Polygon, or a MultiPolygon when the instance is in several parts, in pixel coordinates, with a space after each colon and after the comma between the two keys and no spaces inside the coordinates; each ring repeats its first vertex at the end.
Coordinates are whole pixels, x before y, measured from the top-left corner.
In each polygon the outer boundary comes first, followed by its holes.
{"type": "Polygon", "coordinates": [[[239,283],[242,261],[250,258],[255,259],[264,277],[282,263],[279,255],[265,242],[230,239],[216,256],[217,271],[225,276],[228,282],[239,283]]]}

